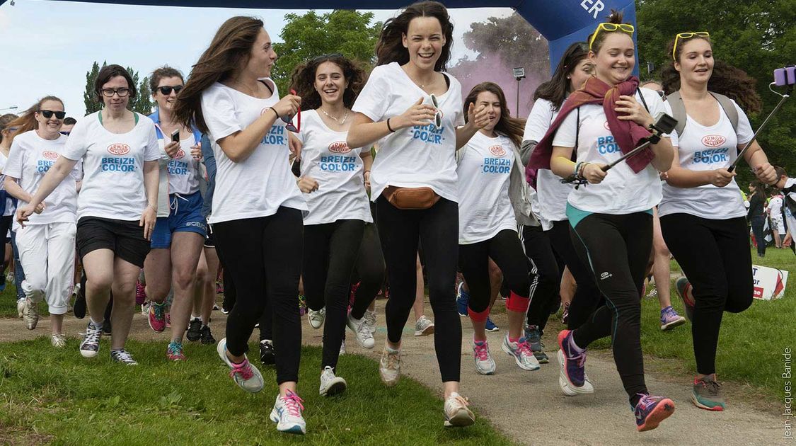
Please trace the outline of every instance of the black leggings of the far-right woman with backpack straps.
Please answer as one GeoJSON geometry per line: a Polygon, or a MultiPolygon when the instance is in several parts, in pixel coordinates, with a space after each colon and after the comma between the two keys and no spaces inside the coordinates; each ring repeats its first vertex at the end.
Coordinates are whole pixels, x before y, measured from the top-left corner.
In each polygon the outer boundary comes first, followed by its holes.
{"type": "Polygon", "coordinates": [[[724,311],[739,313],[753,299],[746,219],[708,220],[673,213],[661,217],[661,232],[693,287],[691,335],[696,372],[714,374],[724,311]]]}

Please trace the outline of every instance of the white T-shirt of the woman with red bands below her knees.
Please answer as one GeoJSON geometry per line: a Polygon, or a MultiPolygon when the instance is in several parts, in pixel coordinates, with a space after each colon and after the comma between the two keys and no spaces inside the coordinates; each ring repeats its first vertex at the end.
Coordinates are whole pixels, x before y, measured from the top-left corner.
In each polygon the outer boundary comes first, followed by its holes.
{"type": "Polygon", "coordinates": [[[517,231],[509,201],[514,165],[511,139],[490,138],[480,131],[464,147],[458,162],[458,244],[486,241],[503,229],[517,231]]]}

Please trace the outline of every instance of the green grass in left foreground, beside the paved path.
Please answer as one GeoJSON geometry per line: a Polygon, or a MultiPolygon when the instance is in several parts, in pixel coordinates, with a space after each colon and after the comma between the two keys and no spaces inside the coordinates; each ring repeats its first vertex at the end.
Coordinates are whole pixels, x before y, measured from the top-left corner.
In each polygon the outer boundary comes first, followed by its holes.
{"type": "MultiPolygon", "coordinates": [[[[162,342],[128,342],[140,365],[77,354],[77,340],[55,350],[48,338],[0,344],[0,444],[511,444],[478,417],[443,428],[443,402],[416,381],[381,384],[377,363],[340,358],[349,381],[339,397],[318,396],[321,350],[302,350],[298,393],[307,435],[276,431],[272,366],[257,365],[266,386],[244,393],[214,346],[186,346],[188,362],[167,362],[162,342]]],[[[256,346],[252,345],[252,351],[256,346]]]]}

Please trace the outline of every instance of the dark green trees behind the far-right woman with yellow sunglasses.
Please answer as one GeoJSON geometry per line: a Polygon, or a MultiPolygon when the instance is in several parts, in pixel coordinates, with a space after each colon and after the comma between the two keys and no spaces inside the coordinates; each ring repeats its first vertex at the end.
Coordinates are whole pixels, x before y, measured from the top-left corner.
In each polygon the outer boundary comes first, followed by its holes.
{"type": "MultiPolygon", "coordinates": [[[[775,107],[779,96],[768,91],[774,68],[794,63],[796,0],[638,0],[638,49],[642,63],[671,63],[665,48],[677,33],[710,32],[717,60],[741,68],[757,80],[763,111],[750,115],[755,129],[775,107]]],[[[759,143],[771,164],[796,174],[796,104],[791,100],[771,118],[759,143]]],[[[739,169],[739,184],[751,180],[739,169]]]]}

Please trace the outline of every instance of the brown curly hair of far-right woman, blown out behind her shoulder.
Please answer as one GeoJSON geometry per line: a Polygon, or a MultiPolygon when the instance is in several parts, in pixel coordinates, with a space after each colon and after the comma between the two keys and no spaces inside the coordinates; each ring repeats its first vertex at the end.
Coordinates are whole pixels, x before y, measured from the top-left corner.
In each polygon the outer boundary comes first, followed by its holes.
{"type": "MultiPolygon", "coordinates": [[[[712,46],[709,37],[697,36],[689,39],[680,39],[677,41],[677,52],[674,53],[677,61],[680,61],[685,44],[694,39],[703,39],[712,46]]],[[[672,54],[675,51],[674,41],[669,42],[667,51],[668,54],[672,54]]],[[[667,95],[680,89],[680,72],[677,71],[677,68],[674,68],[674,61],[669,62],[669,65],[666,65],[661,71],[661,82],[663,91],[667,95]]],[[[708,90],[735,100],[736,104],[747,113],[757,113],[763,109],[763,100],[760,99],[760,95],[756,90],[755,80],[742,69],[718,61],[715,58],[713,72],[710,80],[708,80],[708,90]]]]}

